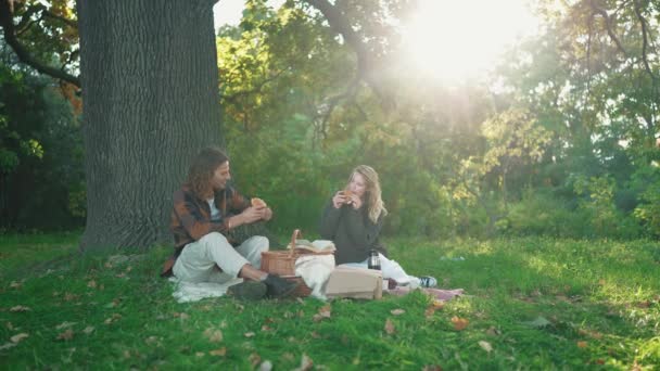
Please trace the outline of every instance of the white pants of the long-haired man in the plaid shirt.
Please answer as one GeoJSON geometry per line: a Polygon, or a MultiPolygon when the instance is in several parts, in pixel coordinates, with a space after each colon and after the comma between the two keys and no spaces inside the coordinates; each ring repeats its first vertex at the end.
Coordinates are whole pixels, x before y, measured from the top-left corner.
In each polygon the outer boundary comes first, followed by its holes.
{"type": "Polygon", "coordinates": [[[173,272],[182,281],[223,283],[236,279],[246,264],[259,269],[267,251],[265,236],[252,236],[234,248],[221,233],[212,232],[183,247],[173,272]]]}

